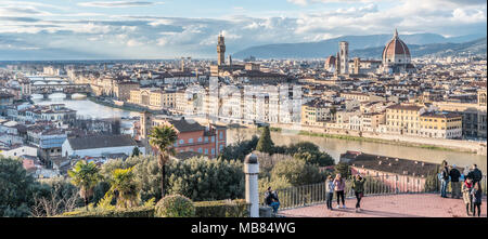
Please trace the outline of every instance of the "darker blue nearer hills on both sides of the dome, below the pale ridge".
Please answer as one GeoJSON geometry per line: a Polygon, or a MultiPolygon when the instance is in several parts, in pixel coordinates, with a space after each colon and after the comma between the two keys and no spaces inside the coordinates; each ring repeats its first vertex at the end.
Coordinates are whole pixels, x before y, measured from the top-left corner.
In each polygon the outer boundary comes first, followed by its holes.
{"type": "MultiPolygon", "coordinates": [[[[486,54],[487,38],[480,38],[474,41],[463,43],[432,43],[432,44],[409,44],[412,56],[457,56],[471,54],[486,54]]],[[[350,57],[359,56],[361,58],[381,58],[384,47],[354,50],[349,53],[350,57]]]]}

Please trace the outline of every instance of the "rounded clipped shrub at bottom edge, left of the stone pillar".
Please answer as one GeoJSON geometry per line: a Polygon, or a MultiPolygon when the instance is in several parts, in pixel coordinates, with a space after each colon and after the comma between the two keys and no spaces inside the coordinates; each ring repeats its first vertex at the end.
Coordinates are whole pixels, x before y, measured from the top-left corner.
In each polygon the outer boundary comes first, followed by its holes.
{"type": "Polygon", "coordinates": [[[164,197],[154,209],[157,217],[192,217],[195,215],[193,202],[181,195],[164,197]]]}

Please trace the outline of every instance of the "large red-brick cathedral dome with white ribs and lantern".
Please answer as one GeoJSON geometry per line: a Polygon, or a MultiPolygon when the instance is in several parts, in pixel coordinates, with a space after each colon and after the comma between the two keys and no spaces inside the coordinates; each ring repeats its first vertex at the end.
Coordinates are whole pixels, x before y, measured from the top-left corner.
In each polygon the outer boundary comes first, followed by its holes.
{"type": "Polygon", "coordinates": [[[410,51],[407,44],[398,37],[398,31],[395,30],[393,39],[386,43],[383,50],[383,64],[409,64],[410,51]]]}

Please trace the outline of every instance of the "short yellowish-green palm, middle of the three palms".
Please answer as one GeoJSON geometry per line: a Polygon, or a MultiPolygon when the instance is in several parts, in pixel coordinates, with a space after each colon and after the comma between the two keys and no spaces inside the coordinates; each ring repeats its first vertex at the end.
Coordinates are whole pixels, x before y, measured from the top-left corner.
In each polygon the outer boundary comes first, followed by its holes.
{"type": "Polygon", "coordinates": [[[134,183],[132,173],[133,167],[129,169],[116,169],[112,172],[110,192],[118,192],[117,207],[130,208],[137,203],[138,186],[134,183]]]}

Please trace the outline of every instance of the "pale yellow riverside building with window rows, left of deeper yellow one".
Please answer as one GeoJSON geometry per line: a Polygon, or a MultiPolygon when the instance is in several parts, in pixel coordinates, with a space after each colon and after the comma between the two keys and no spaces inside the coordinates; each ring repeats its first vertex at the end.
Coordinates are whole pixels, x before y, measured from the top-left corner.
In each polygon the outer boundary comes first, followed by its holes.
{"type": "Polygon", "coordinates": [[[419,135],[420,116],[425,109],[416,105],[397,104],[386,108],[386,133],[419,135]]]}

